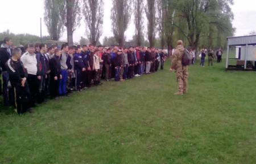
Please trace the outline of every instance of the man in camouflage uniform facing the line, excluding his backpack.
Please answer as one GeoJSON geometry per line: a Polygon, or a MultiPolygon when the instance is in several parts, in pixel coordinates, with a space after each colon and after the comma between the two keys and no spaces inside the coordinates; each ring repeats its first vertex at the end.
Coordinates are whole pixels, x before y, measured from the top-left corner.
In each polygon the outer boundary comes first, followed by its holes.
{"type": "Polygon", "coordinates": [[[187,77],[188,77],[188,67],[183,66],[182,64],[182,56],[184,53],[184,45],[183,41],[179,40],[177,41],[176,49],[174,51],[174,54],[172,55],[172,65],[170,68],[170,71],[176,70],[176,77],[177,77],[177,84],[179,91],[174,94],[180,94],[187,93],[187,77]]]}

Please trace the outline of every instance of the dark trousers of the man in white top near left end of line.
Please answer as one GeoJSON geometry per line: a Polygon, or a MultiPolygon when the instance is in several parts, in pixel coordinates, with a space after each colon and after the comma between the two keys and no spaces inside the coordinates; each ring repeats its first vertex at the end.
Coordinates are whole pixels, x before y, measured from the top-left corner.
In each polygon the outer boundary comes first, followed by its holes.
{"type": "Polygon", "coordinates": [[[32,106],[34,106],[36,103],[36,97],[38,95],[38,89],[39,89],[38,76],[28,74],[27,83],[28,83],[28,87],[30,88],[31,104],[32,106]]]}

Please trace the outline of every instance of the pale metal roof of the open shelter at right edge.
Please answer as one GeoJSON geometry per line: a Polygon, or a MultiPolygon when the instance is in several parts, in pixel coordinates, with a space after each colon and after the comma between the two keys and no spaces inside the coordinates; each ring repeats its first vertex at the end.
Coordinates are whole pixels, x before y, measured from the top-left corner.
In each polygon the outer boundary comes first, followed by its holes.
{"type": "Polygon", "coordinates": [[[255,45],[256,35],[251,36],[238,36],[238,37],[227,37],[228,45],[255,45]]]}

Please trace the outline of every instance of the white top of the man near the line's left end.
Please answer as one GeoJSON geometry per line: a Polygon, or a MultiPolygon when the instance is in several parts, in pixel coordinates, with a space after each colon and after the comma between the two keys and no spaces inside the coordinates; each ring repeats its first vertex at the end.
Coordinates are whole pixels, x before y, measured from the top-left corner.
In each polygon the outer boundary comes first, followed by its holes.
{"type": "Polygon", "coordinates": [[[20,61],[22,61],[24,67],[27,69],[28,74],[36,75],[38,72],[38,67],[36,67],[36,64],[38,64],[38,61],[36,61],[36,54],[33,53],[31,55],[26,52],[22,55],[20,61]]]}

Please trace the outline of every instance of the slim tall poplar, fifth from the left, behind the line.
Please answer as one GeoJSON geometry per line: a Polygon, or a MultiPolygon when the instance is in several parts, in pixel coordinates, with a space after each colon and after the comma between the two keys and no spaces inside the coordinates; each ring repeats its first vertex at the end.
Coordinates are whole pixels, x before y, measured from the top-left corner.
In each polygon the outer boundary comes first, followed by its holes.
{"type": "MultiPolygon", "coordinates": [[[[159,0],[160,1],[160,0],[159,0]]],[[[134,24],[135,24],[135,43],[139,46],[144,41],[144,0],[134,0],[134,24]]]]}

